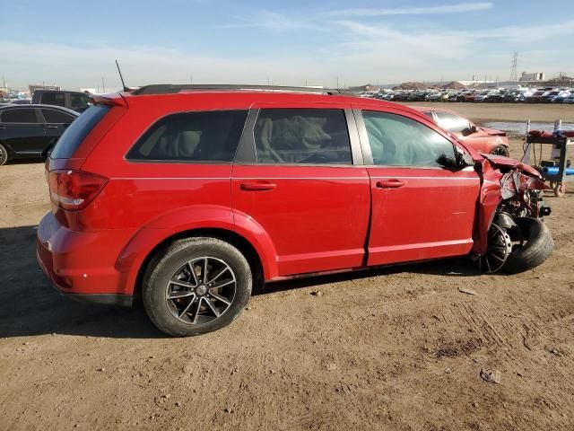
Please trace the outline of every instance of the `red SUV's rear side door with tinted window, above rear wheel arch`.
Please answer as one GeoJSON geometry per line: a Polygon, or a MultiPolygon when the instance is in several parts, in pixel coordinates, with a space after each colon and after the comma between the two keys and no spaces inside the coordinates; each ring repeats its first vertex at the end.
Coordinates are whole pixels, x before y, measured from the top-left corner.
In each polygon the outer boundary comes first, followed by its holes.
{"type": "Polygon", "coordinates": [[[258,105],[233,166],[238,220],[274,243],[278,275],[359,267],[370,182],[352,111],[337,103],[258,105]]]}

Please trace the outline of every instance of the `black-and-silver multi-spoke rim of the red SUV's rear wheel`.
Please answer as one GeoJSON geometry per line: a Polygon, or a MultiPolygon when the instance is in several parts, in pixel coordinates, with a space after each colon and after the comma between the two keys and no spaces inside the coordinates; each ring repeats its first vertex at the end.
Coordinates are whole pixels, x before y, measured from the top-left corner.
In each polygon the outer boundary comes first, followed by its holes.
{"type": "Polygon", "coordinates": [[[165,300],[173,317],[188,325],[215,321],[230,309],[237,291],[233,270],[222,259],[188,260],[170,277],[165,300]]]}

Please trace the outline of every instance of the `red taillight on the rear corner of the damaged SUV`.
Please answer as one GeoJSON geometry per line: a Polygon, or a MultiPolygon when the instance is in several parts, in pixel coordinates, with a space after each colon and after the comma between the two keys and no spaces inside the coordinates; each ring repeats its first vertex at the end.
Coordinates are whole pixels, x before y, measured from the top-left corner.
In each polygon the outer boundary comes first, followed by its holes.
{"type": "Polygon", "coordinates": [[[50,171],[50,199],[58,207],[77,210],[86,207],[104,188],[108,179],[90,172],[74,170],[50,171]]]}

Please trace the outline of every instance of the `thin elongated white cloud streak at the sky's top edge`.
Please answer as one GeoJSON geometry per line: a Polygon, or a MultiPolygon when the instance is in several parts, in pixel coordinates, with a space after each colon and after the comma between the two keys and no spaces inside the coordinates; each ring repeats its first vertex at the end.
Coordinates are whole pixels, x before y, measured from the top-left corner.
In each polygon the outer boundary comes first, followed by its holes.
{"type": "Polygon", "coordinates": [[[491,9],[494,6],[491,2],[483,3],[459,3],[459,4],[437,4],[434,6],[404,6],[382,9],[343,9],[332,11],[331,15],[343,15],[346,17],[369,17],[385,15],[431,15],[444,13],[465,13],[479,12],[491,9]]]}

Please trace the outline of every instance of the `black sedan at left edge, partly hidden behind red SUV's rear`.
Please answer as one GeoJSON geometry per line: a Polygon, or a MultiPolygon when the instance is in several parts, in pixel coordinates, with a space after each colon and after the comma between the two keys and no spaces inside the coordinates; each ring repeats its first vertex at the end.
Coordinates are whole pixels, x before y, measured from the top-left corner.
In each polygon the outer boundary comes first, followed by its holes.
{"type": "Polygon", "coordinates": [[[0,106],[0,165],[13,159],[41,157],[80,114],[51,105],[0,106]]]}

